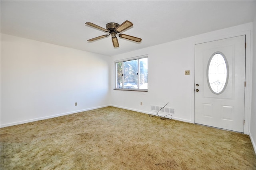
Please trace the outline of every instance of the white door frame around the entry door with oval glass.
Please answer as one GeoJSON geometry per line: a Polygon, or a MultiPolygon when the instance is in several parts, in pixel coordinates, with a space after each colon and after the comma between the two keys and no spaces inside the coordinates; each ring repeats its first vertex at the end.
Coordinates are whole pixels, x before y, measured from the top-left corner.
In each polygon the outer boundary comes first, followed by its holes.
{"type": "MultiPolygon", "coordinates": [[[[242,36],[245,35],[246,39],[246,58],[245,58],[245,81],[246,81],[246,88],[245,88],[245,93],[244,93],[244,134],[249,134],[249,127],[250,127],[250,115],[251,115],[251,106],[252,106],[252,25],[250,25],[250,29],[246,29],[247,31],[242,31],[242,32],[236,32],[236,33],[228,33],[228,30],[225,31],[224,33],[220,33],[219,35],[216,36],[216,33],[212,34],[211,36],[208,36],[208,38],[194,41],[192,46],[194,46],[193,51],[194,51],[194,57],[192,61],[192,70],[191,76],[193,78],[192,82],[192,113],[191,113],[191,123],[194,123],[194,116],[195,116],[195,93],[194,93],[194,84],[195,84],[195,46],[196,44],[201,44],[205,42],[211,42],[215,40],[221,40],[225,38],[232,38],[235,36],[242,36]]],[[[207,33],[206,33],[207,34],[207,33]]],[[[207,36],[205,36],[207,37],[207,36]]]]}

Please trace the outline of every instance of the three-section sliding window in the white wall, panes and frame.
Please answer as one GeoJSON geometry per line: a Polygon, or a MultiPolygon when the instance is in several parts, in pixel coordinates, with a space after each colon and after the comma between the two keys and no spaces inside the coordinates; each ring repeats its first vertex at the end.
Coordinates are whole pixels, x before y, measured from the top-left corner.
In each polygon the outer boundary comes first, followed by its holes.
{"type": "Polygon", "coordinates": [[[148,56],[115,62],[115,89],[148,91],[148,56]]]}

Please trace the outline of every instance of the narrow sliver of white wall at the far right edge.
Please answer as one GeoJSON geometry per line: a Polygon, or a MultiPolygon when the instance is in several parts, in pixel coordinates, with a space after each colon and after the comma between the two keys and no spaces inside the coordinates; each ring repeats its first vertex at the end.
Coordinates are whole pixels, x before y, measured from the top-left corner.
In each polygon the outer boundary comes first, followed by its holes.
{"type": "MultiPolygon", "coordinates": [[[[256,11],[256,4],[255,4],[256,11]]],[[[253,67],[252,67],[252,114],[250,118],[250,138],[256,153],[256,14],[253,22],[253,67]]]]}

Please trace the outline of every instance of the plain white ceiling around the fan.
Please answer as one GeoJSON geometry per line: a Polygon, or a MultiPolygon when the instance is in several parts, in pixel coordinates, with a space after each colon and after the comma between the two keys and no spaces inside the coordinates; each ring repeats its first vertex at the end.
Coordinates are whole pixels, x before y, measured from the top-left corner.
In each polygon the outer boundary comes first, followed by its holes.
{"type": "Polygon", "coordinates": [[[1,0],[1,33],[113,56],[252,22],[255,2],[1,0]],[[125,20],[134,26],[123,33],[142,38],[141,43],[118,38],[120,47],[114,48],[110,36],[87,42],[106,33],[85,22],[105,28],[125,20]]]}

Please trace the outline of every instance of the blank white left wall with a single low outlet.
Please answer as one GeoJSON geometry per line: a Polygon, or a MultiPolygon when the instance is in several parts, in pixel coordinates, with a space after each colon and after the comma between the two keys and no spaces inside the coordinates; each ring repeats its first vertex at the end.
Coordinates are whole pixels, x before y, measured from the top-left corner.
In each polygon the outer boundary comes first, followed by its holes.
{"type": "Polygon", "coordinates": [[[1,127],[108,106],[109,60],[1,34],[1,127]]]}

